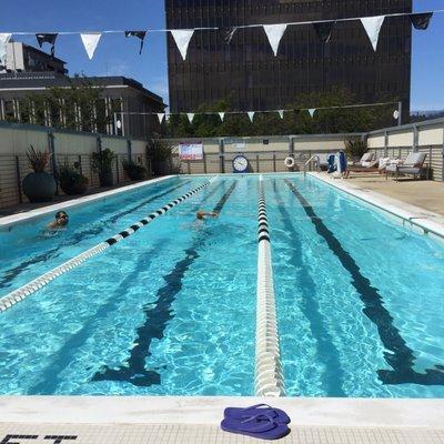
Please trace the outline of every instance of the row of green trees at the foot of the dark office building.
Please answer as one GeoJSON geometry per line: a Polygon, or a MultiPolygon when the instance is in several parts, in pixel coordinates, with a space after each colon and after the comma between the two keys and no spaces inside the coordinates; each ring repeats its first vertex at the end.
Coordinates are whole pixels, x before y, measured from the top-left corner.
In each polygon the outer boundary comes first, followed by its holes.
{"type": "MultiPolygon", "coordinates": [[[[386,98],[384,101],[396,102],[397,99],[386,98]]],[[[346,89],[334,89],[327,93],[300,94],[285,107],[294,110],[284,113],[281,119],[278,112],[258,112],[251,122],[246,113],[226,114],[222,122],[218,112],[233,111],[230,101],[219,101],[214,104],[202,104],[195,111],[191,124],[185,114],[172,115],[167,125],[168,137],[240,137],[240,135],[283,135],[283,134],[316,134],[341,132],[365,132],[387,125],[393,121],[394,104],[384,107],[337,108],[316,110],[312,118],[306,111],[313,108],[343,107],[356,103],[354,95],[346,89]],[[301,111],[300,111],[301,110],[301,111]],[[200,115],[200,112],[213,112],[200,115]]]]}

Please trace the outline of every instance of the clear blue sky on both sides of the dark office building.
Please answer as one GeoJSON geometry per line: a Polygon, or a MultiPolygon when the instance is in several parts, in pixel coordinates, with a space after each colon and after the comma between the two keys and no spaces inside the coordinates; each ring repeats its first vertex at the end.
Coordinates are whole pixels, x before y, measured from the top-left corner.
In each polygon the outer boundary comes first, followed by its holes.
{"type": "MultiPolygon", "coordinates": [[[[415,10],[444,9],[443,0],[414,0],[415,10]]],[[[0,31],[94,31],[164,28],[163,0],[14,0],[4,2],[0,31]]],[[[36,44],[33,37],[20,37],[36,44]]],[[[444,109],[444,13],[435,14],[427,31],[414,31],[412,110],[444,109]]],[[[103,36],[90,61],[78,36],[59,37],[57,56],[69,62],[70,73],[127,75],[168,101],[165,34],[153,33],[143,54],[135,39],[103,36]]]]}

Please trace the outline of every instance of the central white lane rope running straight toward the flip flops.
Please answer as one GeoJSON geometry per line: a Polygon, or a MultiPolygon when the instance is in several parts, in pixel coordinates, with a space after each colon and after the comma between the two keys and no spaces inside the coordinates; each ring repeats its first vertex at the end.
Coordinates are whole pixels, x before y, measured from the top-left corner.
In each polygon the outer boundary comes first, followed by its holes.
{"type": "Polygon", "coordinates": [[[269,218],[262,175],[259,179],[258,241],[255,394],[256,396],[285,396],[269,218]]]}

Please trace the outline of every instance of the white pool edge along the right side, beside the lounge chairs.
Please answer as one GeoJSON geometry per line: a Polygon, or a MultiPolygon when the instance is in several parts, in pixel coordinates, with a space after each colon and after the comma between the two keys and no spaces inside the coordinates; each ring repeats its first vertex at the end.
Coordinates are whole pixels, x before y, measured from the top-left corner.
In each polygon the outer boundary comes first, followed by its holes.
{"type": "Polygon", "coordinates": [[[309,172],[310,176],[320,180],[321,182],[331,185],[353,198],[364,201],[372,206],[387,213],[387,215],[395,216],[405,226],[416,229],[421,234],[432,234],[440,241],[444,241],[444,218],[432,211],[427,211],[420,206],[414,206],[410,203],[403,202],[375,191],[363,189],[359,185],[351,184],[346,180],[333,179],[325,176],[323,173],[309,172]]]}

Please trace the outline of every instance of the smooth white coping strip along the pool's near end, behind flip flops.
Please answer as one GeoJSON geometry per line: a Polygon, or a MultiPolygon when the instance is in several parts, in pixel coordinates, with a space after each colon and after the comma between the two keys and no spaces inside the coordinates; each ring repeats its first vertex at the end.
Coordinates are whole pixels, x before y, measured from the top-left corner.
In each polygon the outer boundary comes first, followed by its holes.
{"type": "Polygon", "coordinates": [[[292,427],[440,427],[444,400],[0,396],[1,423],[219,425],[226,406],[271,404],[292,427]]]}

